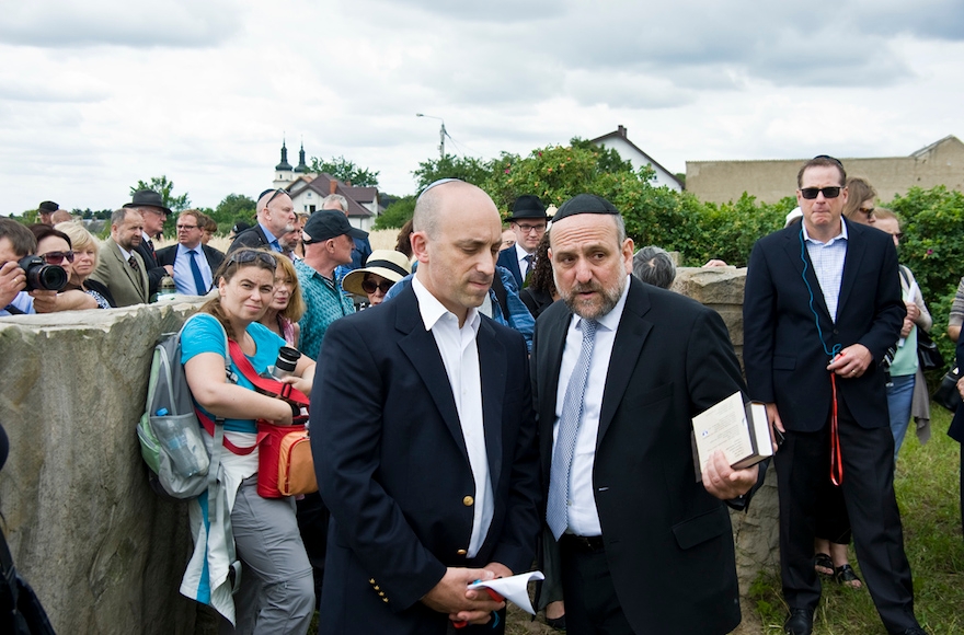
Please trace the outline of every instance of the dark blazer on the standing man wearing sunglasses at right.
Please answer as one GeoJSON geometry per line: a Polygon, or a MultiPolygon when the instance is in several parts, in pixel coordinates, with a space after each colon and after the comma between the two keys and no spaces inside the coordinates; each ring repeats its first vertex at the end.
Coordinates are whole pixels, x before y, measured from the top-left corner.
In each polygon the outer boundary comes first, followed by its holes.
{"type": "Polygon", "coordinates": [[[750,397],[776,403],[789,430],[819,430],[831,403],[827,350],[859,343],[873,355],[873,362],[859,378],[838,377],[837,393],[861,427],[887,426],[885,379],[879,365],[900,336],[907,314],[893,239],[847,222],[847,256],[834,322],[802,231],[795,224],[760,239],[749,258],[743,359],[750,397]]]}

